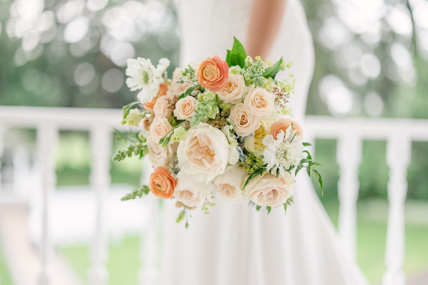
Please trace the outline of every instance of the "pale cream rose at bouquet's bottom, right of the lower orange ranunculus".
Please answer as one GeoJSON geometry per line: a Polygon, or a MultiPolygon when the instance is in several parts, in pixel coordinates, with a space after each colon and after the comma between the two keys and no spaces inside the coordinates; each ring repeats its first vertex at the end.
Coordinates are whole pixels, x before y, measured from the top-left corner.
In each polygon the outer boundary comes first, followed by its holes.
{"type": "Polygon", "coordinates": [[[187,207],[199,207],[208,200],[211,200],[211,182],[197,181],[192,174],[183,171],[178,172],[177,185],[174,189],[174,197],[178,202],[187,207]]]}

